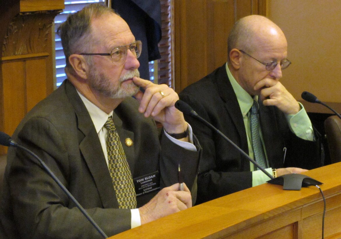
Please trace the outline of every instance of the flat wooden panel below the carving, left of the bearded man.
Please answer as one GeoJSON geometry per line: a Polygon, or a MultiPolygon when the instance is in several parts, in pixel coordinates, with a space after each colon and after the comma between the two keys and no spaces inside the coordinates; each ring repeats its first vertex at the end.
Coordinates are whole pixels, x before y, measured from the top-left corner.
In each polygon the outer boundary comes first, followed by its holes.
{"type": "Polygon", "coordinates": [[[2,131],[12,135],[25,114],[47,96],[46,68],[49,54],[3,57],[2,131]],[[31,56],[31,57],[29,57],[31,56]]]}

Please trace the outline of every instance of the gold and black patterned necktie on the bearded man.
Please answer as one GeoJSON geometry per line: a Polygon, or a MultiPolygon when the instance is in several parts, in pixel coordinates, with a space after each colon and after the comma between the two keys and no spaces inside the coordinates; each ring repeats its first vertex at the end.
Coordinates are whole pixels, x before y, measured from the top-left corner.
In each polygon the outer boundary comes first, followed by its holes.
{"type": "Polygon", "coordinates": [[[108,130],[106,147],[109,172],[119,208],[134,209],[136,208],[136,193],[133,178],[112,116],[108,117],[104,126],[108,130]]]}

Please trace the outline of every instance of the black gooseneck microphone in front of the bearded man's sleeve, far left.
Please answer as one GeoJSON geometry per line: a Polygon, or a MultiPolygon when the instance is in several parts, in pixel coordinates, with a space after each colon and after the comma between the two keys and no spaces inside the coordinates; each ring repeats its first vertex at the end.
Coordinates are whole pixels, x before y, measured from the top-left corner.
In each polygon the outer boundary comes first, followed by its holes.
{"type": "Polygon", "coordinates": [[[68,189],[60,182],[60,180],[56,177],[56,175],[47,167],[44,161],[38,157],[35,153],[31,150],[27,149],[24,146],[19,145],[15,142],[11,136],[8,134],[0,131],[0,144],[3,146],[14,146],[19,149],[26,151],[27,153],[31,154],[34,158],[38,159],[39,163],[43,166],[43,168],[48,172],[48,174],[55,180],[55,182],[59,185],[59,187],[64,191],[66,195],[75,203],[77,208],[84,214],[84,216],[89,220],[89,222],[95,227],[95,229],[102,235],[103,238],[108,238],[107,235],[103,232],[103,230],[97,225],[95,221],[91,218],[91,216],[84,210],[84,208],[79,204],[79,202],[72,196],[68,189]]]}

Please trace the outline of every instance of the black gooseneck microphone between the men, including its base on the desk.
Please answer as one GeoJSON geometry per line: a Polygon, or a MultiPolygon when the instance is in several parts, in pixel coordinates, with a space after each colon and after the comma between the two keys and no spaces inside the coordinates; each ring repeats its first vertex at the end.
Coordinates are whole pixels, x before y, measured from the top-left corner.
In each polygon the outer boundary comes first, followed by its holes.
{"type": "Polygon", "coordinates": [[[320,185],[321,182],[310,178],[307,175],[298,174],[298,173],[291,173],[291,174],[285,174],[280,177],[274,178],[270,173],[268,173],[262,166],[260,166],[255,160],[250,158],[250,156],[245,153],[243,150],[240,149],[234,142],[232,142],[229,138],[227,138],[220,130],[218,130],[216,127],[214,127],[212,124],[207,122],[204,118],[199,116],[186,102],[182,100],[177,100],[175,102],[175,108],[180,110],[182,113],[193,116],[196,119],[199,119],[202,121],[206,126],[213,129],[219,135],[221,135],[225,140],[227,140],[229,143],[231,143],[242,155],[244,155],[251,163],[257,166],[262,172],[264,172],[271,180],[267,181],[267,183],[271,184],[279,184],[283,185],[284,190],[300,190],[301,187],[308,187],[310,185],[320,185]]]}

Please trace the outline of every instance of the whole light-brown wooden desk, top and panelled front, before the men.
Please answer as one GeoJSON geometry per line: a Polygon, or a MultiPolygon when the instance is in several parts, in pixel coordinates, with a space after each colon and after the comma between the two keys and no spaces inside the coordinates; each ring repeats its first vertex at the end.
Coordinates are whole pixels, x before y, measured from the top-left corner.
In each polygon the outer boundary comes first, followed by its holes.
{"type": "MultiPolygon", "coordinates": [[[[325,238],[341,238],[341,163],[305,173],[323,182],[325,238]]],[[[114,238],[321,238],[323,199],[315,186],[263,184],[125,231],[114,238]]]]}

